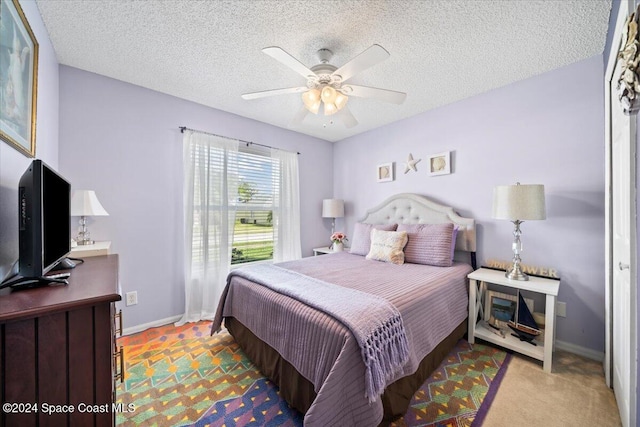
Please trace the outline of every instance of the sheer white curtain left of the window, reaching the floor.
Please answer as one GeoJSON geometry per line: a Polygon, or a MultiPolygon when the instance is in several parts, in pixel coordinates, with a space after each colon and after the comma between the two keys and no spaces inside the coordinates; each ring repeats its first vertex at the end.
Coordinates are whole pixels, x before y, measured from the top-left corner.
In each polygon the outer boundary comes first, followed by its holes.
{"type": "Polygon", "coordinates": [[[238,200],[238,141],[184,131],[185,313],[211,320],[231,265],[238,200]]]}

